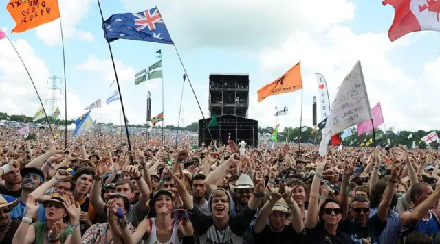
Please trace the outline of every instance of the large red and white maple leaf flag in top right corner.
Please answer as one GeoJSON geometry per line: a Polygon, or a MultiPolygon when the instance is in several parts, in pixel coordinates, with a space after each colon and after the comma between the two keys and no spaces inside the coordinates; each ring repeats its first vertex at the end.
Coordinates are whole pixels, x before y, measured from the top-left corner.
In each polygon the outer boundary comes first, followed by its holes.
{"type": "Polygon", "coordinates": [[[385,0],[395,10],[388,36],[393,42],[411,32],[440,31],[440,0],[385,0]]]}

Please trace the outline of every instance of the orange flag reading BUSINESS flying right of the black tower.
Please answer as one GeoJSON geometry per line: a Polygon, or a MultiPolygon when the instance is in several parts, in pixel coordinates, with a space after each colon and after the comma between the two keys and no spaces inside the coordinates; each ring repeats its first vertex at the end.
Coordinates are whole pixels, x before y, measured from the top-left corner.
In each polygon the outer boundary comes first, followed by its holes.
{"type": "Polygon", "coordinates": [[[301,61],[274,82],[263,86],[257,93],[259,102],[266,97],[281,93],[292,93],[303,88],[301,79],[301,61]]]}

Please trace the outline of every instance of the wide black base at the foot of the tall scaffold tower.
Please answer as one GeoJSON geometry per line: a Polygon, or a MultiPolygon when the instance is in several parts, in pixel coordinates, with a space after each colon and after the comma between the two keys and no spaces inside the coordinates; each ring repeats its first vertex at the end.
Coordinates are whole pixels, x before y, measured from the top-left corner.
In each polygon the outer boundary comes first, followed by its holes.
{"type": "MultiPolygon", "coordinates": [[[[205,145],[211,143],[211,137],[206,128],[206,124],[209,124],[210,121],[211,118],[206,118],[206,123],[203,119],[199,120],[199,146],[202,143],[205,143],[205,145]]],[[[223,114],[217,116],[217,123],[219,123],[218,126],[210,128],[212,137],[217,140],[217,143],[228,144],[230,133],[230,140],[236,143],[245,141],[247,146],[258,147],[259,121],[235,116],[234,114],[223,114]]]]}

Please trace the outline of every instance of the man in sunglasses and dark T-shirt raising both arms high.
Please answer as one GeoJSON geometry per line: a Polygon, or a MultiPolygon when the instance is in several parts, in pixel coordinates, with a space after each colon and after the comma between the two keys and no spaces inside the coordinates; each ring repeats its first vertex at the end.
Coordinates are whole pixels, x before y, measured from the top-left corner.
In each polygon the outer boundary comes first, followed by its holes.
{"type": "Polygon", "coordinates": [[[397,184],[397,172],[400,172],[399,165],[391,169],[391,178],[382,195],[377,212],[370,217],[370,202],[362,196],[355,196],[349,202],[349,178],[353,175],[353,164],[347,160],[342,178],[341,206],[342,223],[340,230],[349,234],[353,243],[379,243],[380,234],[386,226],[386,217],[390,210],[391,200],[397,184]],[[350,215],[350,219],[349,219],[350,215]]]}

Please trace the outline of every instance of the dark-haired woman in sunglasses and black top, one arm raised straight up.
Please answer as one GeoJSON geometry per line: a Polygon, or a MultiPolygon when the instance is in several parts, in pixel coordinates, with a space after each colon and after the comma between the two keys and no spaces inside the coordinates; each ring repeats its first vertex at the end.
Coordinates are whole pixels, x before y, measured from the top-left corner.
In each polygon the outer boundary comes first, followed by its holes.
{"type": "MultiPolygon", "coordinates": [[[[325,158],[318,158],[315,162],[316,173],[311,182],[309,210],[305,219],[304,243],[333,243],[333,244],[351,244],[350,236],[338,229],[338,224],[342,219],[342,209],[336,199],[320,196],[320,183],[324,181],[322,172],[325,169],[327,161],[325,158]],[[320,201],[320,208],[318,204],[320,201]]],[[[344,191],[344,190],[342,190],[344,191]]],[[[346,190],[347,193],[347,190],[346,190]]]]}

